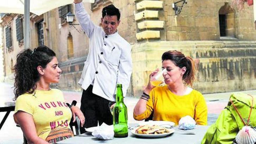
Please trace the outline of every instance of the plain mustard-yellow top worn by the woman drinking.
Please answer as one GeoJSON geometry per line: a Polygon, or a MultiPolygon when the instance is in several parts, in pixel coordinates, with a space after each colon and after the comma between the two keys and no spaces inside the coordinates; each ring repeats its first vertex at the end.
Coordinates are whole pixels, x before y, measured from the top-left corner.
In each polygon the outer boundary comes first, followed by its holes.
{"type": "Polygon", "coordinates": [[[172,121],[176,125],[179,120],[189,115],[197,125],[207,125],[207,106],[203,95],[192,90],[188,95],[178,96],[168,86],[159,86],[151,90],[147,109],[140,115],[134,114],[135,120],[148,118],[154,110],[153,120],[172,121]]]}

